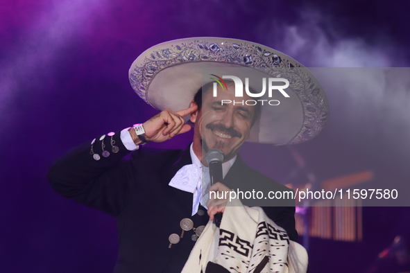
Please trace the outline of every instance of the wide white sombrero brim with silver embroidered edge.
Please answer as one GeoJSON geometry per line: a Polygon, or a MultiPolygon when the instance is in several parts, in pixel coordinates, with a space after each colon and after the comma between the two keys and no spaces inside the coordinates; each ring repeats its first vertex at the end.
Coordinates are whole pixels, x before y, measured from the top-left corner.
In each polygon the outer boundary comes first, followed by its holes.
{"type": "MultiPolygon", "coordinates": [[[[196,37],[177,39],[147,49],[133,62],[130,83],[137,94],[159,110],[185,109],[200,87],[213,74],[253,74],[285,78],[289,98],[280,92],[259,99],[280,100],[280,105],[262,107],[261,117],[248,141],[274,145],[302,143],[314,138],[329,118],[323,87],[301,64],[262,44],[239,39],[196,37]],[[215,72],[216,71],[216,72],[215,72]],[[226,72],[229,71],[229,72],[226,72]]],[[[256,82],[254,80],[254,82],[256,82]]],[[[250,84],[259,90],[262,83],[250,84]]]]}

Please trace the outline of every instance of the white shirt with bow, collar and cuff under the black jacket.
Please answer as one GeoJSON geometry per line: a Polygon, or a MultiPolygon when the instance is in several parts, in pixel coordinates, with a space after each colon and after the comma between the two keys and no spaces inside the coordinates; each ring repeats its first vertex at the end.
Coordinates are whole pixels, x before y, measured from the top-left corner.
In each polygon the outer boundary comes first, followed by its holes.
{"type": "MultiPolygon", "coordinates": [[[[121,131],[121,141],[127,150],[138,150],[139,146],[135,145],[128,129],[130,129],[130,127],[121,131]]],[[[169,186],[178,188],[181,191],[193,193],[192,215],[194,215],[198,211],[199,204],[202,204],[207,208],[205,204],[209,198],[208,190],[210,188],[210,178],[209,169],[203,166],[201,161],[195,155],[192,146],[193,143],[189,147],[192,164],[180,168],[176,175],[171,179],[171,182],[169,182],[169,186]]],[[[225,175],[228,173],[236,159],[237,156],[222,164],[223,178],[225,178],[225,175]]]]}

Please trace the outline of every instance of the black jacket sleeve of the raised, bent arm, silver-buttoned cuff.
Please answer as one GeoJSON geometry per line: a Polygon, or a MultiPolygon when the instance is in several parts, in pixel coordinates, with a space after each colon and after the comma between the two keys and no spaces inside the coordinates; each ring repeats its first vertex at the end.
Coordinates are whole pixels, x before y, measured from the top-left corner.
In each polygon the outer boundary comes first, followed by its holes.
{"type": "MultiPolygon", "coordinates": [[[[95,160],[91,154],[91,141],[70,150],[55,160],[47,179],[51,187],[61,195],[81,204],[98,209],[113,216],[121,213],[126,202],[128,183],[135,179],[130,161],[121,161],[130,151],[123,146],[120,133],[113,136],[119,152],[112,152],[110,136],[103,139],[108,157],[102,156],[102,141],[96,139],[93,145],[95,160]]],[[[135,181],[135,180],[134,180],[135,181]]]]}

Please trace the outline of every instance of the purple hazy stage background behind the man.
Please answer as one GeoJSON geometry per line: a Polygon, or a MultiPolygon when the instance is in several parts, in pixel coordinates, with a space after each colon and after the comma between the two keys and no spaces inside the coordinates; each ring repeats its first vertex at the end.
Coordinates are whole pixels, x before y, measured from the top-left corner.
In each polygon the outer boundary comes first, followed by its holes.
{"type": "MultiPolygon", "coordinates": [[[[112,272],[114,218],[55,193],[46,172],[70,148],[156,113],[128,82],[130,64],[148,47],[232,37],[306,67],[410,66],[408,1],[1,0],[0,7],[0,272],[112,272]]],[[[385,188],[409,182],[409,89],[371,99],[326,90],[329,125],[296,146],[318,181],[373,170],[371,183],[385,188]]],[[[185,148],[191,137],[150,145],[185,148]]],[[[249,164],[279,182],[296,167],[286,147],[247,145],[244,159],[250,150],[274,164],[249,164]]],[[[311,239],[309,272],[366,272],[395,236],[409,246],[409,227],[408,207],[364,208],[364,240],[311,239]]],[[[376,272],[408,267],[391,259],[376,272]]]]}

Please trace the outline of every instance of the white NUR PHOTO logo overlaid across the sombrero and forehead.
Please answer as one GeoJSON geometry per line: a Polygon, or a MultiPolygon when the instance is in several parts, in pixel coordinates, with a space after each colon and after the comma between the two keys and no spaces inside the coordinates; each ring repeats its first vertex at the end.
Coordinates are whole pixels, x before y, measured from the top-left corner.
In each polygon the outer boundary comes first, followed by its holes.
{"type": "MultiPolygon", "coordinates": [[[[214,76],[216,78],[211,78],[212,80],[215,80],[218,82],[218,84],[222,87],[222,90],[224,91],[225,89],[228,90],[228,86],[226,85],[225,81],[223,79],[230,79],[234,82],[234,87],[235,87],[235,97],[241,98],[244,97],[244,83],[240,78],[237,76],[216,76],[214,74],[210,74],[211,76],[214,76]]],[[[218,91],[217,87],[218,84],[214,82],[214,97],[218,96],[218,91]]],[[[280,94],[284,96],[284,98],[289,98],[289,95],[287,94],[284,89],[287,89],[289,87],[289,80],[284,79],[284,78],[268,78],[268,97],[272,98],[273,91],[279,91],[280,94]],[[284,85],[273,85],[273,82],[283,82],[284,85]]],[[[249,90],[249,78],[245,78],[245,91],[248,96],[251,98],[260,98],[265,95],[266,93],[266,78],[262,78],[262,91],[259,93],[252,93],[249,90]]],[[[268,105],[279,105],[280,101],[279,100],[221,100],[221,105],[233,103],[234,105],[241,104],[241,105],[256,105],[257,103],[261,103],[264,105],[264,102],[267,102],[268,105]]]]}

